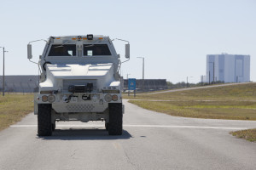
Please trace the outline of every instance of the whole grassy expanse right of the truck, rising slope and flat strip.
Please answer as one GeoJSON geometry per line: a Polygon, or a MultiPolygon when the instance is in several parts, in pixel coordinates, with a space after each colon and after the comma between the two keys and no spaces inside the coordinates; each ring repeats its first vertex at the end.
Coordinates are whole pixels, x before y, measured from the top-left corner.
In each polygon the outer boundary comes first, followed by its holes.
{"type": "Polygon", "coordinates": [[[145,109],[172,116],[256,120],[256,83],[124,98],[145,109]]]}

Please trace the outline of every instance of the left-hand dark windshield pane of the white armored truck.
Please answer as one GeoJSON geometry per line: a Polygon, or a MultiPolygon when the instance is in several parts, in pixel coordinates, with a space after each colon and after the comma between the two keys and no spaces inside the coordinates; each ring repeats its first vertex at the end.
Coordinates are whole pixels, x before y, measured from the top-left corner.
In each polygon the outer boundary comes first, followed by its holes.
{"type": "Polygon", "coordinates": [[[52,45],[49,50],[49,56],[76,56],[76,45],[52,45]]]}

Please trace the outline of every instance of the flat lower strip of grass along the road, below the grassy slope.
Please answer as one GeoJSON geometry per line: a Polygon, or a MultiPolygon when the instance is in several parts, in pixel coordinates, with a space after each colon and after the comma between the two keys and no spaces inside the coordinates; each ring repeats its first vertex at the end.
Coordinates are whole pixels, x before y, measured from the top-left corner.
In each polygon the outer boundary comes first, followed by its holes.
{"type": "Polygon", "coordinates": [[[130,100],[129,102],[140,107],[143,107],[144,109],[166,113],[172,116],[256,121],[255,102],[155,102],[145,100],[130,100]]]}

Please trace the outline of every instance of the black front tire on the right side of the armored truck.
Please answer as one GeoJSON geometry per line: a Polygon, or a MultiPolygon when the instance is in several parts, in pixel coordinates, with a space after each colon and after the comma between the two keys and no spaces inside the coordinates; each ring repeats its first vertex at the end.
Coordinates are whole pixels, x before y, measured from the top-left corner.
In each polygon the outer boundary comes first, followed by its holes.
{"type": "Polygon", "coordinates": [[[122,104],[121,103],[108,104],[108,109],[109,109],[108,134],[121,135],[123,133],[122,104]]]}

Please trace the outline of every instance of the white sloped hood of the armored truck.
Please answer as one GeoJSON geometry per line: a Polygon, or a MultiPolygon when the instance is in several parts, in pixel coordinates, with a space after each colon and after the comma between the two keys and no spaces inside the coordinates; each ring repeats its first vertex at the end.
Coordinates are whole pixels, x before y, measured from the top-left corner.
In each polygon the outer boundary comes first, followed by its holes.
{"type": "MultiPolygon", "coordinates": [[[[113,79],[113,63],[96,65],[46,65],[46,79],[40,82],[40,90],[65,88],[66,82],[96,82],[96,88],[108,86],[113,79]]],[[[68,82],[68,83],[69,83],[68,82]]],[[[80,84],[73,84],[80,85],[80,84]]],[[[66,87],[67,88],[67,87],[66,87]]]]}

